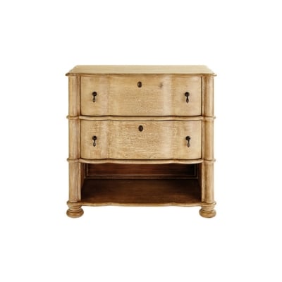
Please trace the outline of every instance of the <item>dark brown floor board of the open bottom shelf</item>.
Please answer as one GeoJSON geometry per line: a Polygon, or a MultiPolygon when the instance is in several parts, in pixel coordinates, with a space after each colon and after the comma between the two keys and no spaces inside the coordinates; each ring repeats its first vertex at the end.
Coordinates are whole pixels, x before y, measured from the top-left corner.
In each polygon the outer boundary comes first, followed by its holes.
{"type": "Polygon", "coordinates": [[[197,179],[85,179],[82,205],[200,206],[197,179]]]}

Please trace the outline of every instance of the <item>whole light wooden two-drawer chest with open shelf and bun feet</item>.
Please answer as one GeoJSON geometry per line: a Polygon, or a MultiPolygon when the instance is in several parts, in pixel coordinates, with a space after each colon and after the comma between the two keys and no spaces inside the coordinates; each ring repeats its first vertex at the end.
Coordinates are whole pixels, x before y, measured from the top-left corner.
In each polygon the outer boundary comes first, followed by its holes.
{"type": "Polygon", "coordinates": [[[214,210],[214,73],[206,66],[75,66],[68,216],[82,206],[214,210]]]}

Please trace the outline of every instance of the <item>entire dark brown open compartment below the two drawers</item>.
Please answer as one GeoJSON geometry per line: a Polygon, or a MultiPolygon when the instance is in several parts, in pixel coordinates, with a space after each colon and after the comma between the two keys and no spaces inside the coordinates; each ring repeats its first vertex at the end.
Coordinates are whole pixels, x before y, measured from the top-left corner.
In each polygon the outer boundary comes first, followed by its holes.
{"type": "Polygon", "coordinates": [[[201,202],[198,164],[87,164],[83,205],[180,205],[201,202]]]}

